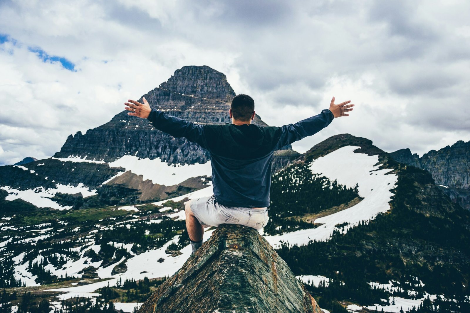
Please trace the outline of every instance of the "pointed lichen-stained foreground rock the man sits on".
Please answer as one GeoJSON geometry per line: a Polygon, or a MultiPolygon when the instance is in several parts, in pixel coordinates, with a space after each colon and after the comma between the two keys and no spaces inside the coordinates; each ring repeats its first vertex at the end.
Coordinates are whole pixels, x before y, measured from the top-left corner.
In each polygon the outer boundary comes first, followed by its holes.
{"type": "Polygon", "coordinates": [[[322,313],[258,231],[221,224],[138,313],[322,313]]]}

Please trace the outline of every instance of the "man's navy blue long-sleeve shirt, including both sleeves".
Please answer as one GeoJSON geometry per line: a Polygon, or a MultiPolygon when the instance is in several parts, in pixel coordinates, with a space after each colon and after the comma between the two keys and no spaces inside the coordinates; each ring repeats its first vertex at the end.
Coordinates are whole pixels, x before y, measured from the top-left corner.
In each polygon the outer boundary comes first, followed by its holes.
{"type": "Polygon", "coordinates": [[[267,207],[274,151],[319,132],[333,118],[329,109],[323,109],[318,115],[282,127],[199,125],[154,108],[147,119],[157,130],[185,137],[209,151],[217,202],[225,206],[267,207]]]}

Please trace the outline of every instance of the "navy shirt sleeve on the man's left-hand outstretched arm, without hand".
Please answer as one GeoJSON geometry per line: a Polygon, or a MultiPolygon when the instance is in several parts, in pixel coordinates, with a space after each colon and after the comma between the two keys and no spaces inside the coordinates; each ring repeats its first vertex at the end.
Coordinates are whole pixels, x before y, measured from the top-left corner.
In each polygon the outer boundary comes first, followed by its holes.
{"type": "Polygon", "coordinates": [[[173,137],[185,137],[189,141],[206,148],[203,125],[168,115],[155,108],[150,111],[150,115],[147,117],[147,120],[152,122],[152,125],[157,130],[161,130],[173,137]]]}

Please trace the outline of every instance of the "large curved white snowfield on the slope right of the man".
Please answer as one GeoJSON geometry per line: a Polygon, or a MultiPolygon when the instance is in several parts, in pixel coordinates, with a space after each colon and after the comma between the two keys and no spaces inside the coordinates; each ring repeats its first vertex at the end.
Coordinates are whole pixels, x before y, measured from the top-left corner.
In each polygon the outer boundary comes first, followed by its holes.
{"type": "Polygon", "coordinates": [[[334,214],[323,216],[314,221],[323,225],[315,229],[302,229],[286,234],[266,236],[266,240],[274,248],[281,246],[280,241],[305,245],[309,240],[326,241],[331,238],[335,225],[347,222],[343,227],[343,233],[360,221],[370,221],[377,214],[390,209],[389,201],[393,195],[390,189],[396,187],[398,176],[388,174],[392,168],[378,169],[378,155],[369,156],[365,153],[354,153],[358,146],[348,145],[339,148],[332,153],[319,157],[310,164],[312,173],[318,173],[337,180],[338,183],[352,188],[358,184],[359,196],[364,199],[355,206],[334,214]]]}

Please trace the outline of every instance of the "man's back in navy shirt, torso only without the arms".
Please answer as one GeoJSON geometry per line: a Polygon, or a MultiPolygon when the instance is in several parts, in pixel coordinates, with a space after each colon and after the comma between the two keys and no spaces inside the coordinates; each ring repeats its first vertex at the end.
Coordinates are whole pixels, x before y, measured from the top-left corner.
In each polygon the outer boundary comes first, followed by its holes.
{"type": "Polygon", "coordinates": [[[269,206],[271,162],[281,128],[227,123],[204,126],[204,133],[216,200],[225,206],[269,206]]]}

